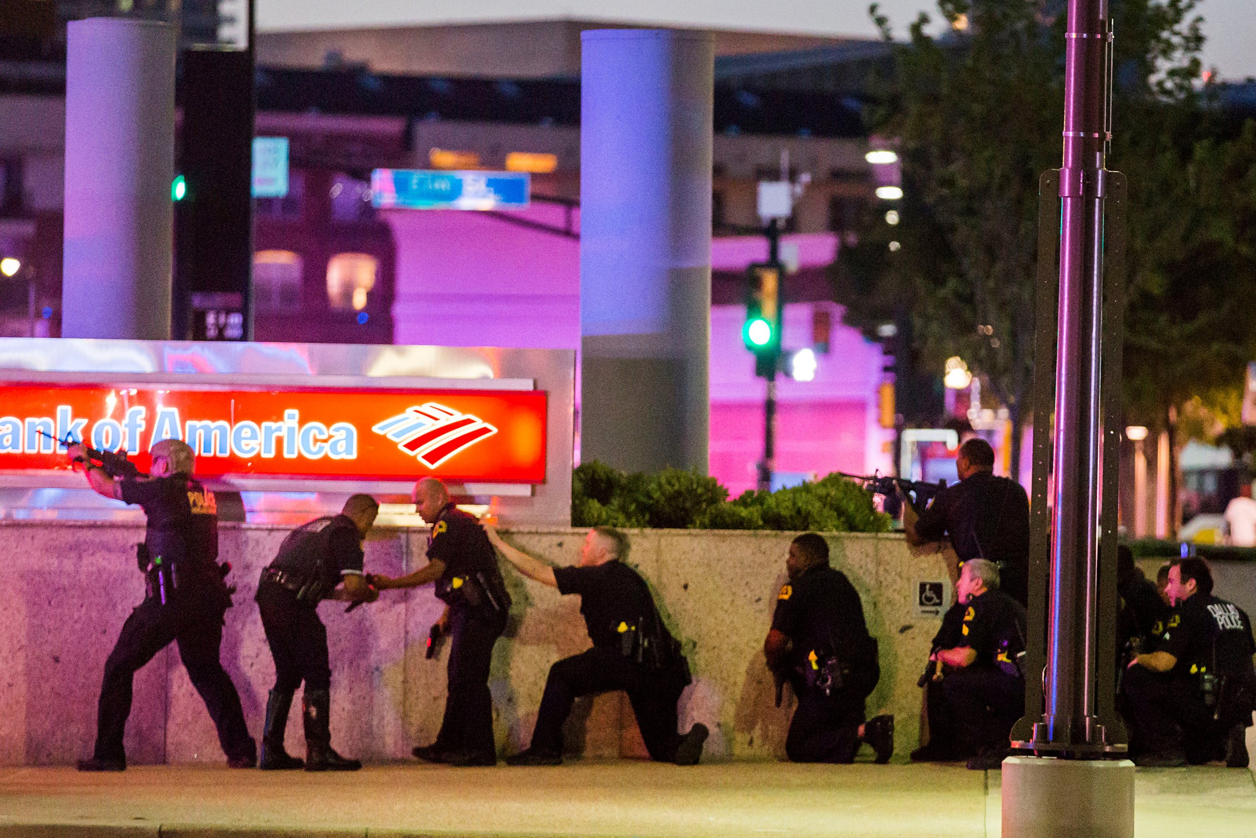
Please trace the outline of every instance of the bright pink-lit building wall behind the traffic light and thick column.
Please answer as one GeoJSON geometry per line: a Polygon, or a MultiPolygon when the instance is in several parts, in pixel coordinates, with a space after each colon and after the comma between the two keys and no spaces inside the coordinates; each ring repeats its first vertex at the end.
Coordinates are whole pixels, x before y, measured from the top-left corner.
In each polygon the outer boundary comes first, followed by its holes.
{"type": "MultiPolygon", "coordinates": [[[[565,212],[534,204],[511,216],[564,229],[565,212]]],[[[579,349],[578,239],[477,212],[393,210],[383,216],[397,244],[397,343],[579,349]]],[[[578,231],[579,211],[574,221],[578,231]]],[[[828,265],[836,254],[830,234],[785,240],[798,242],[804,268],[828,265]]],[[[766,256],[759,237],[712,244],[716,270],[741,270],[766,256]]],[[[786,349],[810,344],[815,308],[830,312],[830,351],[819,356],[815,381],[780,381],[776,471],[885,471],[891,436],[877,425],[875,403],[880,346],[842,325],[839,305],[820,302],[785,309],[786,349]]],[[[741,305],[711,310],[710,470],[734,495],[754,487],[762,452],[765,382],[754,376],[741,343],[744,315],[741,305]]]]}

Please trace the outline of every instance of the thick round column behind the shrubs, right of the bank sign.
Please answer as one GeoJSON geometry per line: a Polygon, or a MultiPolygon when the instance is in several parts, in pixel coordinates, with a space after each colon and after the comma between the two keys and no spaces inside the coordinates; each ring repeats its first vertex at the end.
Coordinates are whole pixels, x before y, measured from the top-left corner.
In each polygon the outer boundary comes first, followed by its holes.
{"type": "Polygon", "coordinates": [[[582,43],[582,459],[705,474],[712,39],[617,29],[582,43]]]}

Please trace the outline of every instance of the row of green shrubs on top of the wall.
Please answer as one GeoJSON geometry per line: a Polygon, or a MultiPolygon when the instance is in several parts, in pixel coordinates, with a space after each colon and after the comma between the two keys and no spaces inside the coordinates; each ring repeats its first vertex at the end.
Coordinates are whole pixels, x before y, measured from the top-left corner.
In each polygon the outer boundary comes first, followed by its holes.
{"type": "Polygon", "coordinates": [[[883,533],[889,516],[872,495],[840,475],[774,492],[747,491],[730,501],[715,477],[693,471],[625,475],[603,462],[583,464],[571,480],[575,526],[653,526],[883,533]]]}

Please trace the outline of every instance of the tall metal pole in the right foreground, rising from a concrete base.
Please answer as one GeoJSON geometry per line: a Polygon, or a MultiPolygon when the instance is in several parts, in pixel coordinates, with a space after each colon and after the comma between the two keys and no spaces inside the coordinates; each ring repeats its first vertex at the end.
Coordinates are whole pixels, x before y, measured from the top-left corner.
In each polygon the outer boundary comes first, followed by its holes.
{"type": "Polygon", "coordinates": [[[1078,756],[1104,750],[1094,677],[1109,34],[1107,0],[1069,0],[1046,690],[1034,746],[1078,756]]]}

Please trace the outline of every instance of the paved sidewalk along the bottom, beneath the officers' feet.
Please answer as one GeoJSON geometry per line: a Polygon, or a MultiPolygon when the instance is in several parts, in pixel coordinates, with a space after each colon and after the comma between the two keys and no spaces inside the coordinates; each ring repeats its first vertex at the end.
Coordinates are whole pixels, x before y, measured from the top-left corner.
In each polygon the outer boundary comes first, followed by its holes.
{"type": "MultiPolygon", "coordinates": [[[[957,765],[0,769],[0,838],[988,838],[999,834],[999,774],[957,765]]],[[[1256,834],[1252,774],[1139,770],[1139,838],[1202,834],[1256,834]]]]}

